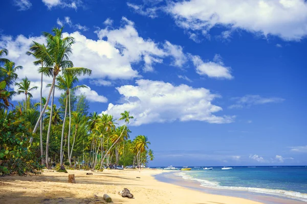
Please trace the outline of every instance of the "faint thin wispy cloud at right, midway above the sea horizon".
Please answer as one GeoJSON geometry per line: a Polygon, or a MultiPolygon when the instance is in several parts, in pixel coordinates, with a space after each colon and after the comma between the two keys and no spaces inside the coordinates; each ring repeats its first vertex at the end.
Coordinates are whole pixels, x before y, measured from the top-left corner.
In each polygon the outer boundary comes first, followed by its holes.
{"type": "Polygon", "coordinates": [[[235,97],[236,100],[234,105],[229,106],[229,109],[241,109],[241,108],[250,108],[253,105],[262,105],[269,103],[280,103],[284,99],[278,97],[261,97],[259,95],[245,95],[243,97],[235,97]]]}

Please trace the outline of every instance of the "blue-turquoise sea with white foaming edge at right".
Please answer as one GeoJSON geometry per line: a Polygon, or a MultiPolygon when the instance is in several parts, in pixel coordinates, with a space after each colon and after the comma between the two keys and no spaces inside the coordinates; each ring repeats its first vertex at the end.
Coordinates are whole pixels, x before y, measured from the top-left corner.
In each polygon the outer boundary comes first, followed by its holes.
{"type": "Polygon", "coordinates": [[[212,189],[249,191],[307,202],[307,167],[305,166],[237,166],[229,170],[193,168],[176,172],[185,180],[212,189]]]}

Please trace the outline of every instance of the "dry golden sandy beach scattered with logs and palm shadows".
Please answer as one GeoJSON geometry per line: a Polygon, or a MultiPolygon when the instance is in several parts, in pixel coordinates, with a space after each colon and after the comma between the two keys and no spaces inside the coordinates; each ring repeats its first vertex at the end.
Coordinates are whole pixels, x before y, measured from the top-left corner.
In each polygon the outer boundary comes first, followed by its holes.
{"type": "Polygon", "coordinates": [[[162,170],[104,170],[92,172],[93,175],[86,175],[91,171],[68,172],[45,171],[40,175],[0,177],[0,200],[2,203],[106,203],[103,194],[107,193],[113,203],[260,203],[156,181],[152,175],[162,170]],[[76,184],[68,183],[68,174],[75,174],[76,184]],[[128,188],[134,198],[121,197],[118,192],[123,188],[128,188]]]}

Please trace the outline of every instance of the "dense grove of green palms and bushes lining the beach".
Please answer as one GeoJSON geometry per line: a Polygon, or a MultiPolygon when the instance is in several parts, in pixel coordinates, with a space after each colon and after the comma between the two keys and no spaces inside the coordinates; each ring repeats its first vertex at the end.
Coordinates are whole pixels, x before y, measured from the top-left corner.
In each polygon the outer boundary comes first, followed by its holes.
{"type": "Polygon", "coordinates": [[[0,175],[37,172],[41,168],[103,169],[109,164],[146,165],[153,160],[146,136],[129,140],[128,124],[133,116],[89,114],[89,101],[75,91],[87,88],[77,85],[78,77],[91,75],[84,67],[74,67],[72,37],[63,37],[62,28],[43,33],[46,44],[32,42],[27,54],[38,65],[41,86],[32,86],[26,77],[18,80],[16,71],[23,69],[6,58],[9,50],[0,49],[0,175]],[[52,79],[48,96],[42,97],[42,82],[52,79]],[[17,83],[19,81],[19,83],[17,83]],[[14,87],[17,91],[14,91],[14,87]],[[32,92],[40,89],[40,101],[32,99],[32,92]],[[62,91],[55,104],[55,89],[62,91]],[[13,105],[16,95],[24,99],[13,105]],[[122,124],[122,125],[119,125],[122,124]],[[82,162],[83,161],[83,162],[82,162]]]}

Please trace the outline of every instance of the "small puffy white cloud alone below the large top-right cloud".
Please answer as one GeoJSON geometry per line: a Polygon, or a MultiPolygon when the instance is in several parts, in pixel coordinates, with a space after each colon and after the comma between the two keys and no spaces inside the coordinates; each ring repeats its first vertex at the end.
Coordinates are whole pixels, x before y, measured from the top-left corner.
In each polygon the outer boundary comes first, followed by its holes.
{"type": "Polygon", "coordinates": [[[190,58],[196,67],[196,72],[200,75],[207,75],[212,78],[232,79],[230,67],[224,66],[220,55],[215,55],[213,62],[204,62],[200,56],[190,55],[190,58]]]}

